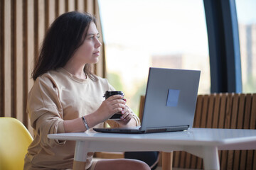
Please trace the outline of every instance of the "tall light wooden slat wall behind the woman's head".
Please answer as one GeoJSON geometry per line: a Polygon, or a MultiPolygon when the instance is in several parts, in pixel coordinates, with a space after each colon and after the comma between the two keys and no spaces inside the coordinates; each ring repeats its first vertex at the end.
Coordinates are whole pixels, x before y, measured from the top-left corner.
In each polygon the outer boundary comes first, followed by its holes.
{"type": "MultiPolygon", "coordinates": [[[[0,0],[0,116],[18,118],[31,133],[26,98],[34,61],[50,23],[68,11],[94,14],[101,32],[97,0],[0,0]]],[[[103,42],[101,55],[94,72],[105,77],[103,42]]]]}

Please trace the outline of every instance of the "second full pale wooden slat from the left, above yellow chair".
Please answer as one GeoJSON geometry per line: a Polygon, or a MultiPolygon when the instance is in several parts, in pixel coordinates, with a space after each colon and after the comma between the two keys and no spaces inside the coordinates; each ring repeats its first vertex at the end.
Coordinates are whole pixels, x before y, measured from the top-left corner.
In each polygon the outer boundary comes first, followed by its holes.
{"type": "Polygon", "coordinates": [[[23,123],[23,86],[24,86],[24,78],[23,78],[23,1],[16,1],[16,16],[15,16],[15,45],[14,47],[14,65],[15,65],[15,76],[14,76],[14,112],[16,113],[16,118],[21,120],[23,123]]]}

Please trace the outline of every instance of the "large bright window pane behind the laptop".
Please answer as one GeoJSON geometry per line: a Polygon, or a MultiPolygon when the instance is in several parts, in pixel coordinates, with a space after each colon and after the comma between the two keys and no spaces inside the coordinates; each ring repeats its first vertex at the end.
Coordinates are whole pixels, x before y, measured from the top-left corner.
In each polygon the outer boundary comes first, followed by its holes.
{"type": "Polygon", "coordinates": [[[199,94],[210,93],[202,0],[100,0],[107,79],[138,113],[149,67],[200,69],[199,94]]]}

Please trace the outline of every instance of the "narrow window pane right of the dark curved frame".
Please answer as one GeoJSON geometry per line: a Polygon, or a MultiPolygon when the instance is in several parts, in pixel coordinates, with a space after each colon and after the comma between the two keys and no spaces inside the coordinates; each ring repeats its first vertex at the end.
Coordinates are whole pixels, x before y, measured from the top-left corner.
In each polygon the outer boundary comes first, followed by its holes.
{"type": "Polygon", "coordinates": [[[242,92],[256,92],[256,1],[236,0],[240,56],[242,67],[242,92]]]}

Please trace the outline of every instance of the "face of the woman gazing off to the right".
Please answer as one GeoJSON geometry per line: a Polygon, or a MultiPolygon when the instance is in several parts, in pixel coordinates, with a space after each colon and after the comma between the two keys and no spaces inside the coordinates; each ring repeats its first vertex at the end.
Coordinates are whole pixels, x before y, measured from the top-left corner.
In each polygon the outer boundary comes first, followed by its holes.
{"type": "Polygon", "coordinates": [[[97,63],[100,56],[101,43],[98,40],[99,32],[97,31],[95,23],[91,22],[87,30],[87,35],[82,45],[78,47],[73,55],[73,60],[80,64],[94,64],[97,63]]]}

